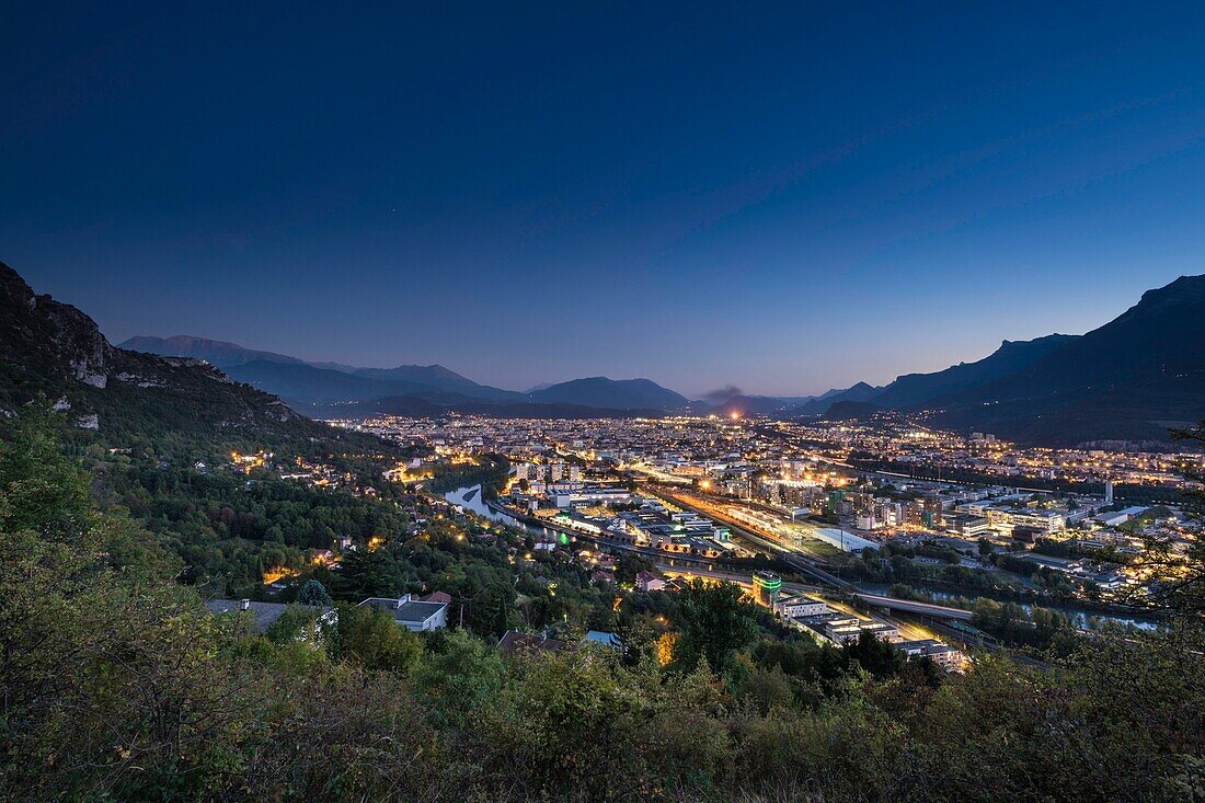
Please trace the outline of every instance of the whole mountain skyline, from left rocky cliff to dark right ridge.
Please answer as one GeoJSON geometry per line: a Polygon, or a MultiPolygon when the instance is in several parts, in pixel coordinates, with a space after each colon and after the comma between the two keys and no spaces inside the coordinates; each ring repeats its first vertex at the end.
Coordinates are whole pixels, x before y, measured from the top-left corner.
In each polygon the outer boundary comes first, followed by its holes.
{"type": "MultiPolygon", "coordinates": [[[[180,410],[224,427],[288,421],[289,411],[272,397],[316,417],[692,411],[844,420],[890,409],[923,415],[937,427],[1051,445],[1166,440],[1169,427],[1205,418],[1205,276],[1185,276],[1148,291],[1123,315],[1083,335],[1006,340],[982,359],[905,374],[883,387],[859,382],[815,398],[737,392],[718,403],[692,402],[647,379],[595,376],[517,392],[481,385],[442,365],[336,367],[204,338],[140,336],[114,348],[90,318],[35,295],[10,268],[0,268],[0,398],[11,410],[37,393],[61,397],[89,426],[95,412],[120,421],[125,408],[143,409],[149,395],[175,398],[180,410]],[[204,359],[270,395],[240,391],[241,385],[213,368],[149,359],[140,352],[204,359]]],[[[188,424],[183,418],[177,423],[188,424]]]]}

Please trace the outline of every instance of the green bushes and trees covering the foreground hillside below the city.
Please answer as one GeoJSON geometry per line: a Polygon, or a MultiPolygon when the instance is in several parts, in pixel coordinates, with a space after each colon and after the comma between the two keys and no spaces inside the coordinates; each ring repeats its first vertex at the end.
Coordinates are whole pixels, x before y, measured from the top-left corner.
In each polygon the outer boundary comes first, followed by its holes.
{"type": "MultiPolygon", "coordinates": [[[[730,586],[693,586],[633,599],[611,622],[623,650],[504,656],[504,628],[600,616],[609,594],[536,563],[516,590],[506,538],[460,541],[433,522],[351,576],[440,587],[480,563],[494,572],[483,587],[509,587],[496,609],[478,604],[496,617],[421,638],[364,610],[322,627],[299,608],[259,635],[208,615],[170,544],[98,504],[90,481],[52,430],[5,432],[5,799],[1205,798],[1191,616],[1158,635],[1063,629],[1051,670],[981,657],[942,678],[872,640],[822,649],[730,586]],[[556,593],[536,582],[548,575],[556,593]]],[[[364,591],[328,580],[336,597],[364,591]]],[[[572,627],[557,634],[576,645],[572,627]]]]}

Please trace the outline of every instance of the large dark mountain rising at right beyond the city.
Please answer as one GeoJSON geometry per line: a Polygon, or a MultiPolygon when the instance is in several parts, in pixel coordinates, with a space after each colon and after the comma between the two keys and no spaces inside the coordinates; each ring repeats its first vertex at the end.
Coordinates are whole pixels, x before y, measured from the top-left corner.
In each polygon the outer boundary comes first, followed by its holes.
{"type": "MultiPolygon", "coordinates": [[[[1005,340],[974,363],[903,375],[874,393],[865,383],[854,387],[864,398],[819,397],[788,415],[827,415],[839,403],[865,402],[1022,442],[1168,440],[1169,427],[1205,420],[1205,276],[1147,291],[1083,335],[1005,340]]],[[[857,408],[840,412],[856,417],[857,408]]]]}

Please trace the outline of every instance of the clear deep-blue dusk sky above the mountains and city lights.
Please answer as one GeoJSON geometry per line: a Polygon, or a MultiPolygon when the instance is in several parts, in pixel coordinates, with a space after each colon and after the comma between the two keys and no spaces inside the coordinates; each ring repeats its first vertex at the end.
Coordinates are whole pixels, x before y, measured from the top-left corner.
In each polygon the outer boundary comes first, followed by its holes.
{"type": "Polygon", "coordinates": [[[20,5],[0,260],[114,342],[805,394],[1205,272],[1200,2],[20,5]]]}

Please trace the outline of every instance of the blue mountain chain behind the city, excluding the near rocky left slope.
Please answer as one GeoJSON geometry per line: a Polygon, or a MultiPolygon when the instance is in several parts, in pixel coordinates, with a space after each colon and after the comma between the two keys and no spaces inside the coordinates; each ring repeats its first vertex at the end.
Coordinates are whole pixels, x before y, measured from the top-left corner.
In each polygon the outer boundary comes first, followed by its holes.
{"type": "Polygon", "coordinates": [[[1133,307],[1083,335],[1005,340],[991,354],[940,371],[904,374],[875,387],[858,382],[817,397],[737,393],[690,402],[647,379],[570,380],[525,393],[480,385],[442,365],[365,369],[200,338],[136,338],[130,346],[207,359],[231,376],[316,411],[496,410],[543,415],[562,405],[602,411],[690,411],[771,417],[840,417],[875,410],[923,414],[934,424],[987,430],[1027,442],[1165,440],[1169,426],[1205,418],[1205,276],[1147,291],[1133,307]],[[408,399],[401,402],[399,399],[408,399]],[[380,404],[378,404],[380,403],[380,404]],[[486,406],[482,406],[486,405],[486,406]],[[489,406],[493,405],[493,406],[489,406]],[[543,406],[540,406],[543,405],[543,406]]]}

